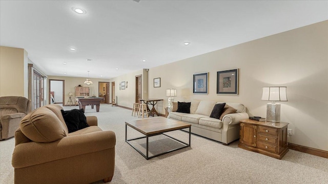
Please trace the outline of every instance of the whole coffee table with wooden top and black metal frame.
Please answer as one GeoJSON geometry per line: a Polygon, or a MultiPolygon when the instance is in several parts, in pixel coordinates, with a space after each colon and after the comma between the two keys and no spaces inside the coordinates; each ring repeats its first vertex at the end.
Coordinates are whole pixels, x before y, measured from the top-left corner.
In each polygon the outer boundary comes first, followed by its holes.
{"type": "Polygon", "coordinates": [[[142,119],[142,120],[134,120],[134,121],[125,122],[125,141],[130,146],[132,146],[136,151],[138,151],[142,156],[144,156],[146,159],[150,159],[150,158],[162,155],[162,154],[170,153],[170,152],[175,151],[175,150],[190,147],[190,139],[191,139],[190,138],[191,137],[191,131],[190,130],[191,130],[191,125],[190,124],[180,122],[180,121],[176,121],[176,120],[167,119],[167,118],[164,118],[164,117],[155,117],[155,118],[148,118],[148,119],[142,119]],[[137,137],[137,138],[134,138],[134,139],[127,140],[127,126],[137,130],[138,132],[140,132],[140,133],[142,133],[146,136],[137,137]],[[174,130],[181,130],[183,128],[189,128],[189,144],[187,144],[185,142],[182,142],[180,140],[177,140],[172,136],[164,134],[165,132],[174,131],[174,130]],[[155,135],[160,135],[160,134],[165,135],[167,137],[170,137],[171,139],[173,139],[177,142],[180,142],[185,146],[180,147],[180,148],[176,148],[176,149],[172,149],[170,151],[166,151],[166,152],[163,152],[163,153],[159,153],[159,154],[156,154],[156,155],[153,155],[153,156],[148,156],[149,137],[155,136],[155,135]],[[130,141],[143,139],[145,137],[146,137],[146,155],[130,143],[130,141]]]}

